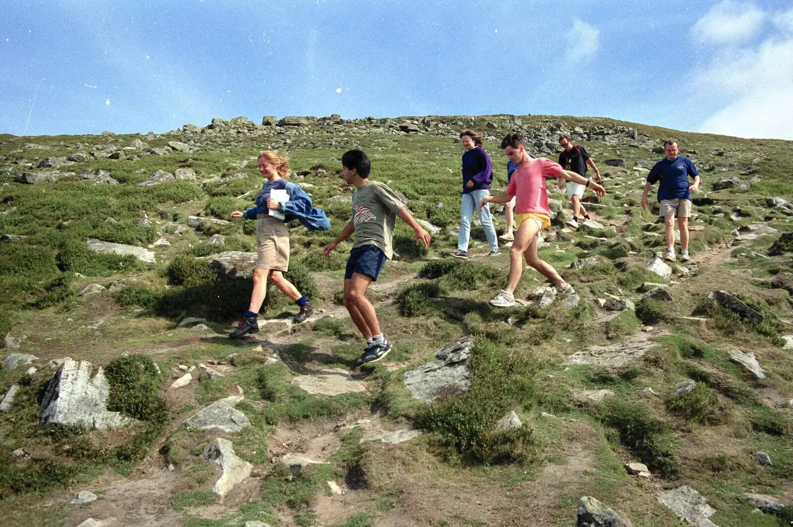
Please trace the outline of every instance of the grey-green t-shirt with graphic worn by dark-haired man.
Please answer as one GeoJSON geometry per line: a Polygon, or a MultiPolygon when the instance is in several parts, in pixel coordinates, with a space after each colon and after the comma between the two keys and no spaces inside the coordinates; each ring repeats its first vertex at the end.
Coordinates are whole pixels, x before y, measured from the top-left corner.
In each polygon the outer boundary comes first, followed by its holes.
{"type": "Polygon", "coordinates": [[[370,181],[352,195],[352,217],[355,227],[355,247],[374,244],[385,258],[393,255],[394,224],[397,212],[404,204],[388,185],[370,181]]]}

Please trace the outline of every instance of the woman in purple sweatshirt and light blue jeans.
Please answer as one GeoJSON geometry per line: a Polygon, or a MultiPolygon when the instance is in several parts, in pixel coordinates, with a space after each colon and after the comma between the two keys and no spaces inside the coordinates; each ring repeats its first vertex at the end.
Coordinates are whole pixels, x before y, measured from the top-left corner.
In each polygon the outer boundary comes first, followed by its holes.
{"type": "MultiPolygon", "coordinates": [[[[454,256],[454,258],[468,258],[468,242],[473,211],[477,210],[477,204],[481,200],[490,195],[493,170],[488,153],[482,148],[481,132],[465,130],[460,134],[460,139],[462,139],[462,147],[465,148],[465,154],[462,155],[460,234],[457,240],[457,250],[449,254],[454,256]]],[[[487,236],[488,244],[490,245],[488,256],[500,254],[501,251],[498,249],[496,229],[493,228],[489,205],[479,209],[479,220],[482,223],[482,228],[485,229],[485,236],[487,236]]]]}

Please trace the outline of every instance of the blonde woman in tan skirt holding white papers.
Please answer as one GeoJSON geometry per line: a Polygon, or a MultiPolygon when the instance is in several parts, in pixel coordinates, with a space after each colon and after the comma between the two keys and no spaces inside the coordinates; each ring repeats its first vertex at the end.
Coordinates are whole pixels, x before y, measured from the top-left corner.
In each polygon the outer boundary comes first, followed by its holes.
{"type": "MultiPolygon", "coordinates": [[[[241,338],[248,333],[259,332],[257,318],[267,293],[268,280],[300,307],[294,323],[304,322],[314,312],[311,302],[283,275],[289,270],[289,228],[285,221],[297,218],[305,223],[305,211],[321,211],[312,209],[311,198],[299,186],[286,181],[289,176],[289,158],[271,150],[263,151],[259,154],[259,173],[267,181],[256,196],[256,204],[244,212],[232,212],[232,218],[256,220],[258,258],[253,273],[251,304],[239,322],[239,327],[228,335],[230,338],[241,338]],[[285,190],[289,200],[274,200],[270,196],[274,190],[285,190]],[[271,211],[284,212],[285,219],[280,217],[284,215],[274,216],[271,211]]],[[[324,217],[324,213],[321,216],[324,217]]]]}

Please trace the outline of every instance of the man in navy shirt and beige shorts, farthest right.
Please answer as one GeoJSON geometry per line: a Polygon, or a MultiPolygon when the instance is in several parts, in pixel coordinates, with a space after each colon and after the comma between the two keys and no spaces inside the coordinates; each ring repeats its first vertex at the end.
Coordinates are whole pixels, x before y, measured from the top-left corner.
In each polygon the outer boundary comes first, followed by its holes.
{"type": "Polygon", "coordinates": [[[666,223],[666,257],[668,262],[675,261],[675,216],[680,227],[680,260],[688,262],[688,216],[691,216],[691,193],[699,189],[699,171],[694,162],[684,155],[677,155],[680,148],[675,139],[664,143],[666,157],[653,166],[647,174],[645,191],[642,194],[642,208],[647,208],[647,194],[649,188],[656,181],[658,185],[658,203],[661,211],[658,216],[664,218],[666,223]],[[688,177],[694,178],[694,183],[688,185],[688,177]]]}

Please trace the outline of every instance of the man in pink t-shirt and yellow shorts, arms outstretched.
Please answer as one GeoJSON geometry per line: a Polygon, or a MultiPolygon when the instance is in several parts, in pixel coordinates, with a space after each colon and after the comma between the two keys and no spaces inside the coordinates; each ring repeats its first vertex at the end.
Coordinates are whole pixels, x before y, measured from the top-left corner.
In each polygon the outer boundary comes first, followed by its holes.
{"type": "Polygon", "coordinates": [[[526,153],[523,145],[523,136],[518,133],[508,134],[501,141],[501,148],[511,162],[520,165],[518,170],[512,174],[509,181],[507,192],[498,196],[488,196],[481,200],[479,206],[484,207],[488,203],[507,203],[512,197],[515,199],[515,241],[509,250],[509,281],[496,298],[490,300],[490,304],[497,307],[510,307],[515,305],[515,288],[518,287],[520,277],[523,274],[523,262],[521,258],[526,258],[526,263],[537,269],[538,273],[546,277],[556,285],[557,291],[565,295],[573,292],[573,286],[569,285],[559,276],[548,262],[544,262],[537,255],[537,233],[541,229],[550,227],[550,208],[548,208],[548,193],[546,193],[546,178],[564,178],[579,185],[587,185],[598,196],[603,196],[606,189],[593,181],[589,181],[584,176],[576,174],[570,170],[564,170],[557,162],[548,158],[532,159],[526,153]]]}

